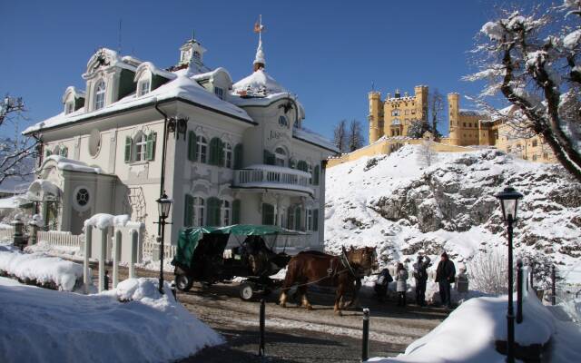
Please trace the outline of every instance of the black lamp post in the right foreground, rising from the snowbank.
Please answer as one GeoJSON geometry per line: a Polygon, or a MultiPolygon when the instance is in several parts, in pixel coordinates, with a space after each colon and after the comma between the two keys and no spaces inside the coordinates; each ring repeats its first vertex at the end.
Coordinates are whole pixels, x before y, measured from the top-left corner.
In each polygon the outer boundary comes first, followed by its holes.
{"type": "Polygon", "coordinates": [[[500,201],[502,217],[508,226],[508,310],[507,310],[507,362],[515,362],[515,312],[512,301],[512,225],[517,221],[518,200],[523,197],[521,193],[515,191],[513,187],[507,187],[499,192],[497,200],[500,201]]]}

